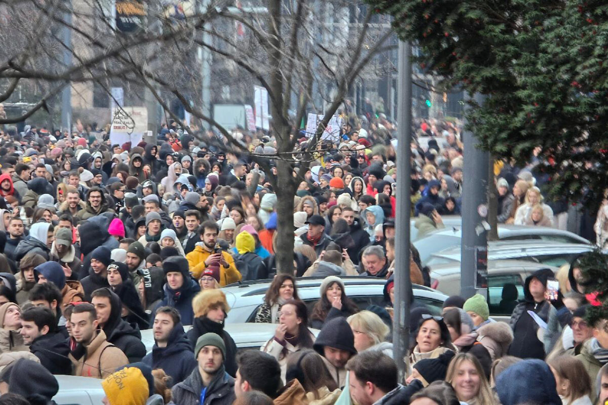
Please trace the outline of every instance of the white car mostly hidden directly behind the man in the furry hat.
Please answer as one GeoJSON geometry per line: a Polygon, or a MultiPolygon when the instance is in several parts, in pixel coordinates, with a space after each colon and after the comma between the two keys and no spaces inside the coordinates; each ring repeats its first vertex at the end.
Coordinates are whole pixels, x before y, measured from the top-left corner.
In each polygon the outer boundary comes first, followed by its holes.
{"type": "MultiPolygon", "coordinates": [[[[230,313],[228,314],[228,318],[230,318],[230,313]]],[[[226,320],[228,319],[226,318],[226,320]]],[[[185,332],[188,332],[192,328],[191,325],[184,326],[185,332]]],[[[226,324],[224,326],[224,330],[228,332],[228,334],[232,337],[235,344],[237,345],[237,350],[247,350],[247,349],[255,349],[259,350],[261,345],[266,343],[268,339],[274,336],[274,332],[277,328],[275,324],[226,324]]],[[[310,331],[313,332],[314,336],[319,335],[319,329],[310,328],[310,331]]],[[[146,352],[150,353],[152,347],[154,346],[154,331],[152,329],[145,329],[141,331],[142,333],[142,342],[146,347],[146,352]]]]}

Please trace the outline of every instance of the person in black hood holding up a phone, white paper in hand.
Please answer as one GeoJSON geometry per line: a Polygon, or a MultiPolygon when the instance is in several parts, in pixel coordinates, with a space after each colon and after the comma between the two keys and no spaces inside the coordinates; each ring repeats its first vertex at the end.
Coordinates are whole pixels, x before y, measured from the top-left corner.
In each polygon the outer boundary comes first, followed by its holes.
{"type": "MultiPolygon", "coordinates": [[[[508,355],[523,359],[542,360],[545,358],[544,342],[540,341],[537,336],[539,325],[528,311],[533,311],[547,324],[553,323],[550,318],[557,318],[556,309],[551,302],[545,299],[549,277],[553,277],[553,271],[541,268],[526,278],[523,286],[524,299],[517,304],[511,315],[510,326],[513,329],[513,342],[509,347],[508,355]]],[[[545,335],[547,333],[548,330],[545,330],[545,335]]]]}

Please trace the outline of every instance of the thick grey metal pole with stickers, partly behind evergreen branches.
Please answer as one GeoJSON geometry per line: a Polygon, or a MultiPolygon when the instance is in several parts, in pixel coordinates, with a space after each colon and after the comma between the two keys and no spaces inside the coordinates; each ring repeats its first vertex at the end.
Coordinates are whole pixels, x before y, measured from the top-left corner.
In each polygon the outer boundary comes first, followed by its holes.
{"type": "MultiPolygon", "coordinates": [[[[483,97],[475,95],[478,104],[483,97]]],[[[462,245],[460,260],[460,295],[475,294],[478,251],[488,247],[487,231],[482,222],[488,215],[488,152],[475,148],[477,140],[471,131],[463,132],[465,146],[462,190],[462,245]]],[[[482,290],[487,291],[487,290],[482,290]]]]}

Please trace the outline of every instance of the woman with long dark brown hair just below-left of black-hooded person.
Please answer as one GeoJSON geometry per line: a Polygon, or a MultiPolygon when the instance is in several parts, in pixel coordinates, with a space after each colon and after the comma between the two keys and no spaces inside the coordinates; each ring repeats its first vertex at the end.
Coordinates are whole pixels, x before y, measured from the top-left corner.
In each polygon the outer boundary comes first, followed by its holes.
{"type": "Polygon", "coordinates": [[[289,356],[286,379],[288,384],[294,379],[302,384],[306,403],[333,404],[342,392],[325,367],[323,358],[311,349],[300,350],[289,356]]]}

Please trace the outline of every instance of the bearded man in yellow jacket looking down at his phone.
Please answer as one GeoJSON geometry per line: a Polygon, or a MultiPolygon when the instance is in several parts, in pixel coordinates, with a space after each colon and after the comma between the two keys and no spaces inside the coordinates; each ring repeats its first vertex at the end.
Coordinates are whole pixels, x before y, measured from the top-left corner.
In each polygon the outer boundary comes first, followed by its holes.
{"type": "Polygon", "coordinates": [[[219,284],[231,284],[240,281],[241,273],[234,264],[234,259],[227,251],[223,251],[217,245],[219,227],[213,221],[204,222],[199,228],[200,242],[196,243],[194,250],[186,254],[190,273],[195,279],[201,277],[201,273],[209,265],[219,264],[219,284]]]}

